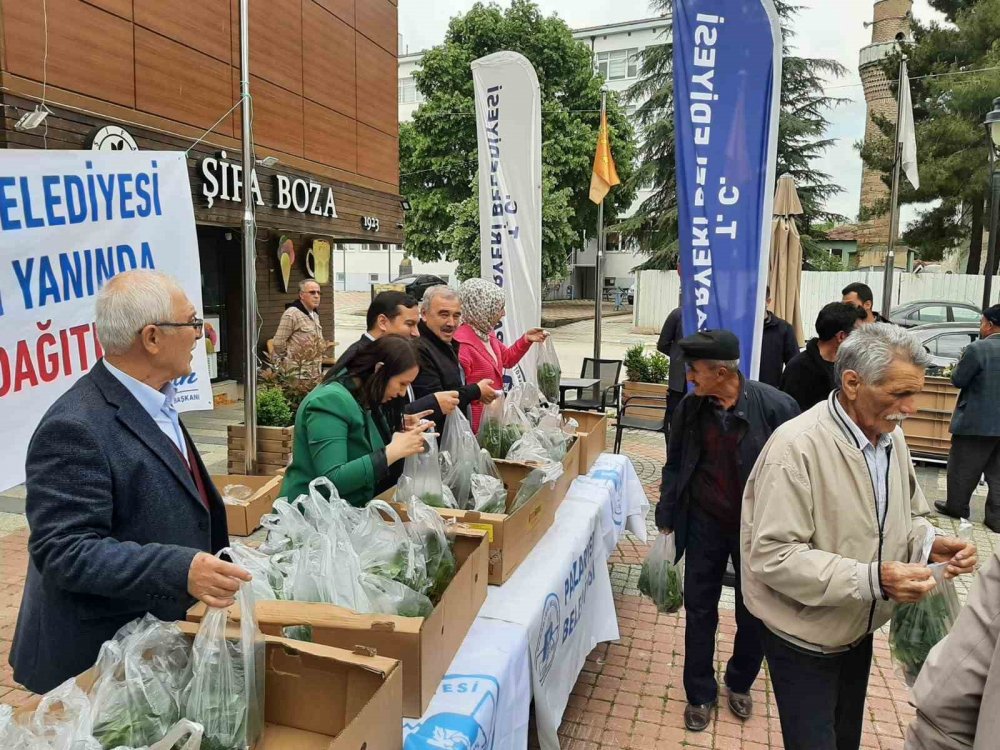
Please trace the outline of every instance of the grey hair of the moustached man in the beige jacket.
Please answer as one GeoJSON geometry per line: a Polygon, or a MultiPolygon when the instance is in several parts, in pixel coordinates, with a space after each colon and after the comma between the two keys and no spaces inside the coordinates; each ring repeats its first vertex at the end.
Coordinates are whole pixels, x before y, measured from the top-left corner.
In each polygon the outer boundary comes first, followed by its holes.
{"type": "Polygon", "coordinates": [[[931,358],[924,345],[905,328],[891,323],[863,325],[837,351],[837,382],[842,382],[844,373],[851,370],[865,385],[881,385],[896,361],[923,369],[931,363],[931,358]]]}

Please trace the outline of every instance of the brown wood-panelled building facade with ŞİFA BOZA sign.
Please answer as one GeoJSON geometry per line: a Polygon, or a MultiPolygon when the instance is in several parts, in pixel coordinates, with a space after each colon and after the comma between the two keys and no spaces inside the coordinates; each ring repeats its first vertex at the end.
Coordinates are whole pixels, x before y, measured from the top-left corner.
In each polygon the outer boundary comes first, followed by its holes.
{"type": "MultiPolygon", "coordinates": [[[[278,160],[257,166],[263,344],[314,242],[402,243],[397,0],[249,5],[256,156],[278,160]],[[287,293],[283,238],[296,251],[287,293]]],[[[242,370],[239,60],[238,0],[0,0],[0,147],[187,152],[220,377],[242,370]],[[44,122],[16,130],[42,103],[44,122]]],[[[320,309],[328,338],[333,276],[320,309]]]]}

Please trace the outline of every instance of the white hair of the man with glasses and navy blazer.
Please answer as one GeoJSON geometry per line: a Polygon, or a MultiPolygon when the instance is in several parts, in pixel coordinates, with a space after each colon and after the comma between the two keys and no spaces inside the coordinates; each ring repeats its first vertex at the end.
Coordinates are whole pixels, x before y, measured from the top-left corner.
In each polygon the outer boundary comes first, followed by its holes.
{"type": "Polygon", "coordinates": [[[179,291],[183,293],[177,282],[159,271],[126,271],[111,279],[95,303],[97,337],[104,351],[125,354],[143,328],[170,322],[172,296],[179,291]]]}

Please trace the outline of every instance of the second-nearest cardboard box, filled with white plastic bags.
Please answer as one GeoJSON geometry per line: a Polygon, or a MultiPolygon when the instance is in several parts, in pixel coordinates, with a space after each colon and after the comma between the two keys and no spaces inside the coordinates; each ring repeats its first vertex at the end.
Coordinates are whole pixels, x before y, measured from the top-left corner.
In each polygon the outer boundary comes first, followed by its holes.
{"type": "MultiPolygon", "coordinates": [[[[430,617],[359,614],[332,604],[311,602],[258,601],[257,621],[265,633],[281,633],[282,628],[290,625],[308,625],[315,643],[346,649],[364,646],[374,649],[379,656],[398,659],[403,673],[403,716],[419,718],[486,601],[489,563],[486,534],[459,529],[455,562],[455,578],[430,617]]],[[[199,621],[204,613],[205,606],[196,604],[188,612],[188,619],[199,621]]],[[[325,710],[321,701],[310,703],[317,711],[325,710]]],[[[388,721],[389,717],[382,720],[388,721]]],[[[401,736],[400,721],[395,723],[395,729],[401,736]]],[[[382,745],[369,743],[368,747],[375,750],[382,745]]]]}

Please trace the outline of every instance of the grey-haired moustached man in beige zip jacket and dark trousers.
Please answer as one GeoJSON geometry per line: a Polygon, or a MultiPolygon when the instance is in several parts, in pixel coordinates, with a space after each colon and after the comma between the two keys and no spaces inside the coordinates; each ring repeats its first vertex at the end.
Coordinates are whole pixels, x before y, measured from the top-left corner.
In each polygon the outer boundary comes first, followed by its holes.
{"type": "Polygon", "coordinates": [[[743,497],[743,599],[786,750],[857,750],[872,633],[935,582],[923,558],[971,573],[975,547],[936,536],[900,422],[928,357],[905,329],[863,326],[837,354],[839,390],[774,433],[743,497]],[[912,561],[912,562],[911,562],[912,561]]]}

